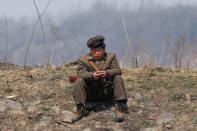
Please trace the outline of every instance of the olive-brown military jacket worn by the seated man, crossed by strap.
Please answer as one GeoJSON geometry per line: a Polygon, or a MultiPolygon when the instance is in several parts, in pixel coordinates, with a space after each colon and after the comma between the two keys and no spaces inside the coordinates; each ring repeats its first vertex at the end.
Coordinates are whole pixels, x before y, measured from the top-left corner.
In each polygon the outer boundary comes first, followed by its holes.
{"type": "Polygon", "coordinates": [[[95,69],[90,65],[89,61],[92,61],[100,71],[106,71],[110,77],[122,74],[115,54],[106,52],[99,61],[95,60],[91,54],[87,55],[78,58],[77,75],[84,80],[93,80],[95,69]],[[89,56],[88,59],[86,58],[87,55],[89,56]]]}

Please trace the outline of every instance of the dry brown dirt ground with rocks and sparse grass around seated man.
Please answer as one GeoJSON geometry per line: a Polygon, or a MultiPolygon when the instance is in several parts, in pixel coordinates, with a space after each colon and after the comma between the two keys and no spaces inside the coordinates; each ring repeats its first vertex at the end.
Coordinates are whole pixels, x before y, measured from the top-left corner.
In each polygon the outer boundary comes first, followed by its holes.
{"type": "Polygon", "coordinates": [[[75,65],[28,67],[0,63],[0,131],[195,131],[197,72],[170,68],[123,70],[129,114],[113,121],[114,107],[98,106],[72,124],[68,76],[75,65]]]}

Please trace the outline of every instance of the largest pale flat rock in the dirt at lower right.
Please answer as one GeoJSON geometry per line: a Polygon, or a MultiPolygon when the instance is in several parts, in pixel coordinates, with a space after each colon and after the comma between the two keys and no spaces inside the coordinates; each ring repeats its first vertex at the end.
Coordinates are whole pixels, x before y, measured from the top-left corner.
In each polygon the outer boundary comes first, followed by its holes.
{"type": "Polygon", "coordinates": [[[174,119],[174,115],[168,112],[163,112],[157,117],[157,122],[169,122],[174,119]]]}

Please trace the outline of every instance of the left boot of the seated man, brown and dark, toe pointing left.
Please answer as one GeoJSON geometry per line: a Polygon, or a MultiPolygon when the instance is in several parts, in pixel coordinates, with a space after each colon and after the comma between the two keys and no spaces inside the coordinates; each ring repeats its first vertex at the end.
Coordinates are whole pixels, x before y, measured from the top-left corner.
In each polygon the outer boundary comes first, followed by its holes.
{"type": "Polygon", "coordinates": [[[77,122],[84,116],[85,107],[82,104],[77,105],[77,111],[74,113],[74,117],[72,118],[72,123],[77,122]]]}

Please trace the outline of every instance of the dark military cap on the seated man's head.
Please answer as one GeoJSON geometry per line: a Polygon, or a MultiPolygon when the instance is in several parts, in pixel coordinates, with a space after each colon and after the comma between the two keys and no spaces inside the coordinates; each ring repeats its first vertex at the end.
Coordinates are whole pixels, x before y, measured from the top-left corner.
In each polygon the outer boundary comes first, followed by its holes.
{"type": "Polygon", "coordinates": [[[105,38],[102,35],[97,35],[92,38],[90,38],[87,42],[88,48],[94,48],[94,47],[103,47],[105,48],[104,43],[105,38]]]}

